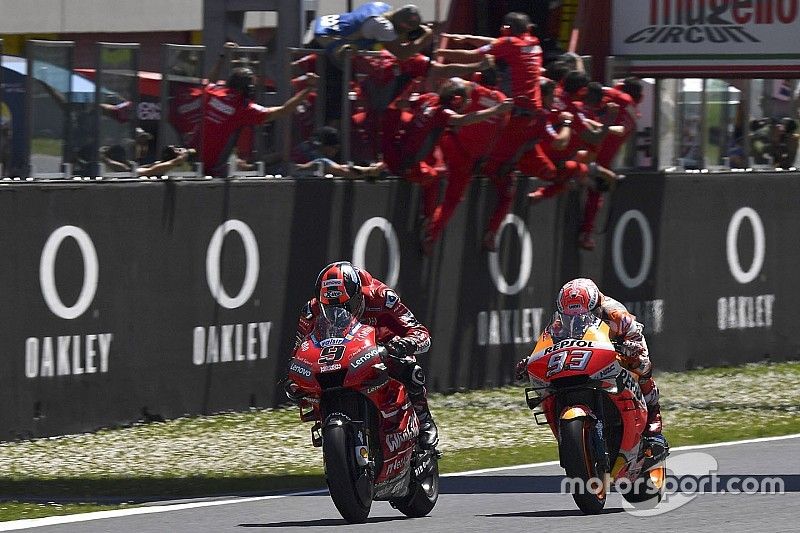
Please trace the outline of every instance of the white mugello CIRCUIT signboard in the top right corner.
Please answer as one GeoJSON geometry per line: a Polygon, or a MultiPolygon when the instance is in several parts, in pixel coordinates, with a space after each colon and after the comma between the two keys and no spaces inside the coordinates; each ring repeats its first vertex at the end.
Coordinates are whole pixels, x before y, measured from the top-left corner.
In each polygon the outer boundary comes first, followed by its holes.
{"type": "Polygon", "coordinates": [[[614,0],[612,16],[612,54],[654,75],[800,71],[800,0],[614,0]]]}

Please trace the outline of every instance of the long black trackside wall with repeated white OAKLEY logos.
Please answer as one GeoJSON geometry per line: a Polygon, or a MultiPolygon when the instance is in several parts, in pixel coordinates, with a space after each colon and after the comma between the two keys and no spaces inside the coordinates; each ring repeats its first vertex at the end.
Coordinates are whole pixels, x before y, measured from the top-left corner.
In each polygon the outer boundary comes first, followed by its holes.
{"type": "Polygon", "coordinates": [[[511,381],[587,275],[629,303],[661,369],[798,356],[793,174],[635,176],[574,242],[580,198],[535,207],[522,183],[496,254],[485,181],[435,254],[402,181],[242,180],[0,186],[0,439],[275,405],[319,269],[353,260],[433,333],[434,390],[511,381]]]}

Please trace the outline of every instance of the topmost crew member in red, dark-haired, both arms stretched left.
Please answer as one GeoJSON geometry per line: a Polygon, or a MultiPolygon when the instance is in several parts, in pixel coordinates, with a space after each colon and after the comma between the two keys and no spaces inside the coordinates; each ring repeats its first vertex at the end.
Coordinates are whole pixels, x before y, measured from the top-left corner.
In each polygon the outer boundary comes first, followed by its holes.
{"type": "Polygon", "coordinates": [[[539,78],[542,71],[542,47],[532,34],[533,26],[524,13],[511,12],[503,18],[502,36],[497,39],[475,35],[450,35],[454,43],[478,44],[474,50],[440,49],[437,54],[448,61],[471,61],[485,54],[495,58],[499,89],[514,101],[511,117],[490,150],[480,173],[491,177],[498,188],[498,206],[483,238],[483,247],[497,248],[497,230],[503,222],[516,192],[513,171],[522,155],[530,150],[537,111],[542,107],[539,78]]]}

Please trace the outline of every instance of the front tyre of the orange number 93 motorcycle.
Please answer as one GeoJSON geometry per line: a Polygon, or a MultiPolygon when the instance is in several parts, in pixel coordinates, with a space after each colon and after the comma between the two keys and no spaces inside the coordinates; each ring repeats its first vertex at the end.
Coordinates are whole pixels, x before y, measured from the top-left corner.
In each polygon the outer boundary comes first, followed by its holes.
{"type": "Polygon", "coordinates": [[[578,508],[585,514],[599,514],[606,504],[606,473],[594,457],[589,420],[562,420],[558,450],[567,477],[582,480],[573,486],[572,498],[578,508]]]}

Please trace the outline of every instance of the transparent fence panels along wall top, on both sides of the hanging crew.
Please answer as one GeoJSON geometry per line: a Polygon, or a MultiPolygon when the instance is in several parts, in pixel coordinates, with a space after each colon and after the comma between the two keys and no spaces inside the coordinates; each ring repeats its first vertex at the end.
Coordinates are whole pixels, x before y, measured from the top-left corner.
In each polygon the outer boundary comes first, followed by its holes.
{"type": "MultiPolygon", "coordinates": [[[[338,128],[342,162],[379,157],[376,117],[388,102],[385,95],[370,94],[364,75],[353,68],[357,56],[377,52],[345,51],[333,58],[325,50],[305,48],[272,55],[264,47],[224,48],[206,72],[212,62],[204,46],[165,44],[161,71],[147,73],[139,70],[137,43],[97,43],[94,69],[73,68],[74,48],[72,41],[31,40],[24,58],[0,54],[0,177],[136,179],[141,165],[163,160],[170,147],[178,146],[194,153],[165,173],[206,179],[212,169],[202,165],[204,88],[209,78],[227,78],[238,66],[256,73],[253,98],[264,106],[280,105],[283,95],[292,94],[288,80],[287,87],[272,81],[276,64],[292,65],[297,86],[302,85],[297,77],[311,71],[320,83],[291,117],[241,128],[226,172],[215,175],[288,175],[292,161],[323,125],[338,128]]],[[[588,70],[590,58],[583,61],[588,70]]],[[[624,58],[608,58],[606,81],[624,77],[627,67],[624,58]]],[[[758,140],[752,126],[775,113],[763,104],[774,92],[772,83],[645,80],[639,130],[616,166],[668,171],[793,166],[754,149],[758,140]]]]}

